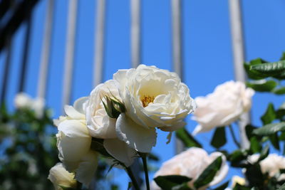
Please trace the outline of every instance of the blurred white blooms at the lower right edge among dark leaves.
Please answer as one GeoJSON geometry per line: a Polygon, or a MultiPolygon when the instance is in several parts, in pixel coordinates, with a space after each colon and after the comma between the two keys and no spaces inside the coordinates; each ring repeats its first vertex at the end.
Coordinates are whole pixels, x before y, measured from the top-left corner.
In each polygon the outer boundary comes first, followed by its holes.
{"type": "MultiPolygon", "coordinates": [[[[252,164],[257,162],[259,159],[259,154],[253,154],[252,156],[248,157],[248,161],[252,164]]],[[[276,174],[279,174],[280,169],[285,169],[285,157],[279,156],[278,154],[269,154],[265,159],[262,159],[261,162],[259,162],[261,172],[263,174],[268,173],[269,176],[275,176],[276,174]]],[[[284,180],[285,174],[281,174],[278,177],[278,180],[284,180]]]]}

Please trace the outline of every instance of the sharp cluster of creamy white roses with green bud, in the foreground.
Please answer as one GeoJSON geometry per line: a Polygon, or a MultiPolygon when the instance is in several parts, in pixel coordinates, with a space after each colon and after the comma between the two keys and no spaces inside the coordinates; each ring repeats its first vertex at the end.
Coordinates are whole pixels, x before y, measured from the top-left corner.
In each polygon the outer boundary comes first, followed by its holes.
{"type": "Polygon", "coordinates": [[[64,110],[66,116],[54,121],[58,157],[88,186],[97,167],[99,142],[116,162],[129,167],[138,154],[155,146],[157,129],[171,133],[184,127],[195,102],[177,74],[139,65],[118,70],[113,80],[64,110]]]}

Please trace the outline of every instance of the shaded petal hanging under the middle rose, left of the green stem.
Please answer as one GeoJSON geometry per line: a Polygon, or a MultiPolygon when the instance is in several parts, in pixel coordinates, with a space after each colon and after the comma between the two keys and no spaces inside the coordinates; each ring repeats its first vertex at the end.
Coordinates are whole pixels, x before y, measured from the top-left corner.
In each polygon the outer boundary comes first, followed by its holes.
{"type": "Polygon", "coordinates": [[[135,158],[135,149],[128,147],[128,144],[120,139],[105,139],[103,145],[107,152],[118,161],[123,162],[126,167],[133,164],[135,158]]]}

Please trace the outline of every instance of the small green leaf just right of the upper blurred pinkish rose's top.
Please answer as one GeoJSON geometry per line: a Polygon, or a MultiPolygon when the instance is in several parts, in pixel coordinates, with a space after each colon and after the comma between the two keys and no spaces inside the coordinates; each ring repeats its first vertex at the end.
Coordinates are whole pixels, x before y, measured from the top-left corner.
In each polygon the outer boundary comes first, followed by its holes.
{"type": "Polygon", "coordinates": [[[271,92],[276,87],[277,83],[274,80],[257,80],[252,83],[247,83],[247,87],[258,92],[271,92]]]}

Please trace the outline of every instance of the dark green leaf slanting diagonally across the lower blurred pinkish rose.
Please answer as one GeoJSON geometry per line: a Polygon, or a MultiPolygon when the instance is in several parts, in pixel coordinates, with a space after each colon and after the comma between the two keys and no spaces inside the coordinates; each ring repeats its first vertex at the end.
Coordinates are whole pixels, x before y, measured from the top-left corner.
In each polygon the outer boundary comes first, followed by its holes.
{"type": "Polygon", "coordinates": [[[222,166],[222,157],[217,157],[217,159],[212,162],[212,164],[209,164],[209,166],[204,169],[202,174],[199,175],[198,179],[194,182],[194,186],[196,188],[199,188],[201,186],[209,184],[213,179],[214,176],[217,174],[217,171],[222,166]]]}

